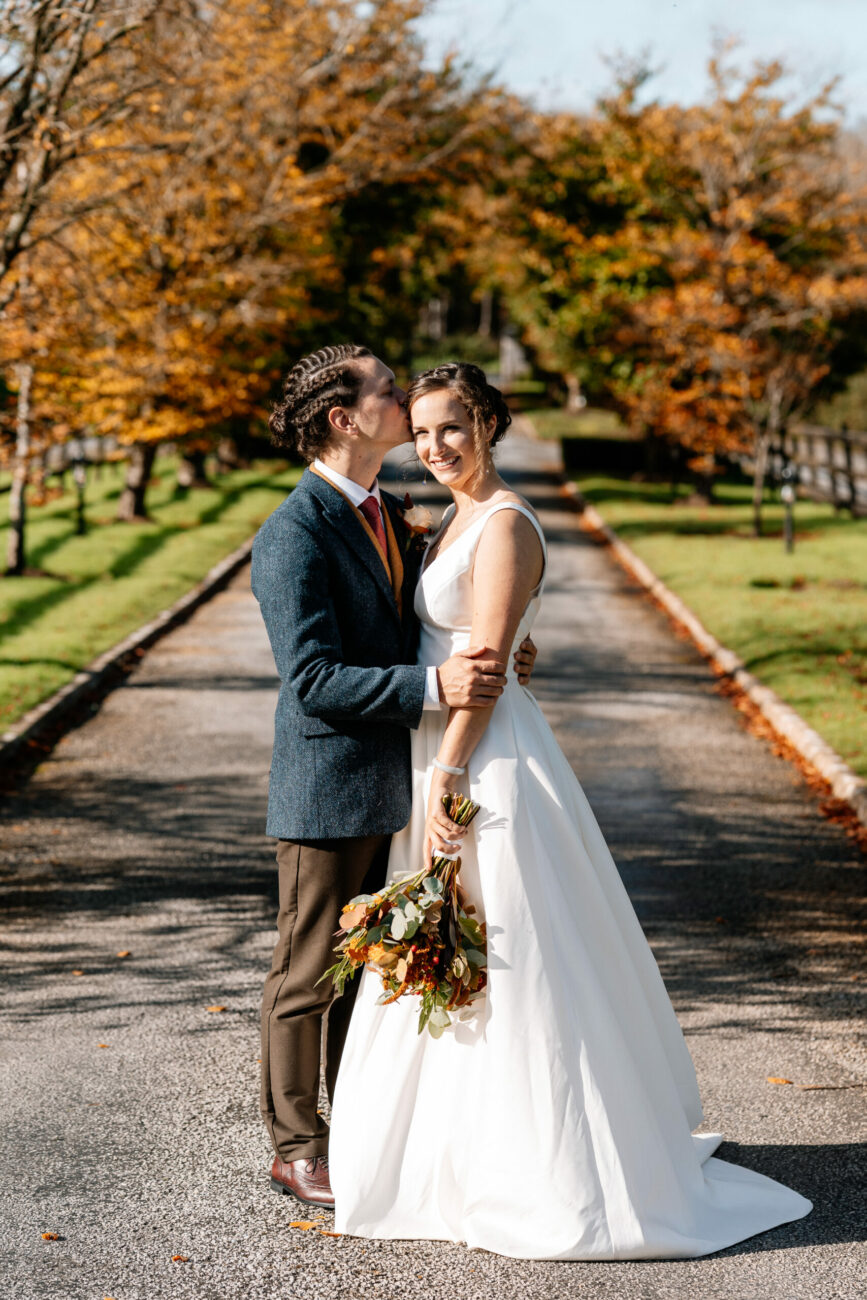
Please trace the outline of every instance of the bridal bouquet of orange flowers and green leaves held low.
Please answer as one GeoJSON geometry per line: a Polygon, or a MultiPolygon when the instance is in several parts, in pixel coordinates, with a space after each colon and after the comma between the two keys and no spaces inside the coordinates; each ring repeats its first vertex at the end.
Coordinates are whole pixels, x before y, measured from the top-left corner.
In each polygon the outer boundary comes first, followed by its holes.
{"type": "MultiPolygon", "coordinates": [[[[463,794],[443,794],[452,822],[468,826],[478,805],[463,794]]],[[[338,991],[363,966],[382,978],[380,1004],[411,993],[420,998],[419,1034],[434,1039],[487,983],[487,936],[484,922],[458,885],[460,858],[435,857],[429,868],[393,880],[378,894],[359,894],[343,909],[339,961],[325,971],[338,991]]]]}

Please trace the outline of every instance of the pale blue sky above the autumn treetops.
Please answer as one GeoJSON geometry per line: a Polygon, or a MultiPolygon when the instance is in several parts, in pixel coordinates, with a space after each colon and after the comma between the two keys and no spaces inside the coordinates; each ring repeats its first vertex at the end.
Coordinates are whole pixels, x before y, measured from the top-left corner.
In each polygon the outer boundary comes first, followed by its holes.
{"type": "Polygon", "coordinates": [[[433,55],[455,48],[541,108],[578,110],[611,84],[606,55],[643,49],[653,95],[694,103],[720,32],[746,62],[783,58],[796,92],[841,75],[846,124],[867,125],[867,0],[435,0],[421,31],[433,55]]]}

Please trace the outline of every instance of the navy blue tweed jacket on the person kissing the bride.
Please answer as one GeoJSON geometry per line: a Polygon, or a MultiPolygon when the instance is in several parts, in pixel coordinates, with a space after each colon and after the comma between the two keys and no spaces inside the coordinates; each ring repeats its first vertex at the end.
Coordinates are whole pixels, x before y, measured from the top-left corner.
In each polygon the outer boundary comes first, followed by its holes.
{"type": "Polygon", "coordinates": [[[281,840],[389,835],[409,820],[409,731],[424,707],[412,608],[420,549],[395,499],[403,620],[352,506],[308,469],[253,542],[252,589],[281,679],[266,833],[281,840]]]}

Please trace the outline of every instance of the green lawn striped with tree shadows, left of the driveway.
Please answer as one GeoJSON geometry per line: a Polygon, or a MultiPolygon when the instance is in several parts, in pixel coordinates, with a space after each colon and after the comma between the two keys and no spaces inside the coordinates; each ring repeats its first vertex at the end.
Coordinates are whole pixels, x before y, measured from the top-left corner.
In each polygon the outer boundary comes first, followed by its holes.
{"type": "MultiPolygon", "coordinates": [[[[285,462],[260,462],[178,498],[175,467],[169,456],[156,462],[148,523],[114,523],[120,465],[88,484],[86,537],[75,536],[71,493],[31,508],[27,563],[45,576],[0,580],[0,731],[183,595],[255,533],[300,476],[285,462]]],[[[4,558],[8,510],[3,494],[4,558]]]]}

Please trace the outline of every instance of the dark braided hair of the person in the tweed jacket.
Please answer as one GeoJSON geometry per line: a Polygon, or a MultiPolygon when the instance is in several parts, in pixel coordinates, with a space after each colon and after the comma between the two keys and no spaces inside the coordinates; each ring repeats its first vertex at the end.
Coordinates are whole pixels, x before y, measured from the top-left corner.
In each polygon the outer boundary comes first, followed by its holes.
{"type": "Polygon", "coordinates": [[[276,446],[308,463],[316,460],[331,433],[331,407],[352,407],[359,400],[364,374],[355,361],[372,355],[369,347],[337,343],[296,361],[268,421],[276,446]]]}

